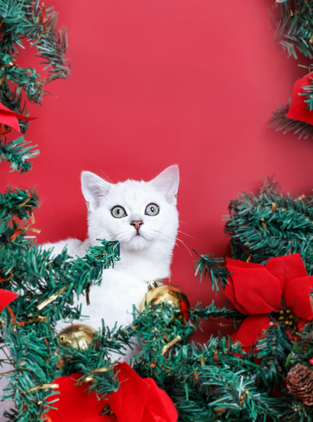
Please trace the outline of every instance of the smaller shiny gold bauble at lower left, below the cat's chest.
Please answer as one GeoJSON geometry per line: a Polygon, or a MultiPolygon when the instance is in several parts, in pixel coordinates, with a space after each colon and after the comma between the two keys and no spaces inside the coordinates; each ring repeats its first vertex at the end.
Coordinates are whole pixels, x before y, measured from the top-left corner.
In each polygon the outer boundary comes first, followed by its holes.
{"type": "Polygon", "coordinates": [[[89,325],[70,325],[59,333],[59,343],[62,346],[86,350],[94,340],[94,330],[89,325]]]}

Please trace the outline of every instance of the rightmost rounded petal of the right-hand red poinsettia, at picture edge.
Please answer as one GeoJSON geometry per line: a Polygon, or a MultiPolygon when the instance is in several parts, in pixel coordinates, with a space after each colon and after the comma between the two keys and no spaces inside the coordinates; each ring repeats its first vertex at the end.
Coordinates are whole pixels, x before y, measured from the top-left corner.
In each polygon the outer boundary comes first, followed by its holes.
{"type": "Polygon", "coordinates": [[[309,295],[313,289],[313,276],[294,279],[287,284],[285,301],[296,317],[307,318],[313,314],[313,297],[309,295]]]}

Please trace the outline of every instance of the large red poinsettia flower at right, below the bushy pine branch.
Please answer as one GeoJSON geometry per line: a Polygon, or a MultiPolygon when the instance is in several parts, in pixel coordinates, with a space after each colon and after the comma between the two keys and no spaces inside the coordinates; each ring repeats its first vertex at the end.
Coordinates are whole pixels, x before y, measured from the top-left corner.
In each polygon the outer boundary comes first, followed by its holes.
{"type": "Polygon", "coordinates": [[[308,276],[300,254],[270,258],[266,265],[248,263],[227,258],[230,273],[225,295],[244,315],[248,315],[240,328],[232,335],[243,349],[250,350],[256,338],[270,326],[268,314],[286,307],[300,325],[313,318],[313,276],[308,276]]]}

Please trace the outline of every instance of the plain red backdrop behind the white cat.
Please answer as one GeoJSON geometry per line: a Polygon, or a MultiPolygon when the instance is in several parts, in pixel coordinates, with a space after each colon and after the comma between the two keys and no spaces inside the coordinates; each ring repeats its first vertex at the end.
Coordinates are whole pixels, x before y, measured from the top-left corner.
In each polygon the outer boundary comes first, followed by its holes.
{"type": "MultiPolygon", "coordinates": [[[[26,138],[41,151],[33,170],[18,175],[4,165],[0,173],[1,189],[37,185],[40,243],[84,239],[81,170],[113,182],[148,180],[178,163],[186,233],[179,238],[189,250],[217,256],[228,244],[222,215],[241,189],[256,191],[261,176],[277,172],[286,191],[311,193],[313,140],[267,128],[276,102],[305,74],[272,43],[272,3],[46,1],[70,32],[72,74],[47,88],[57,98],[30,107],[38,119],[26,138]]],[[[32,56],[21,60],[29,65],[32,56]]],[[[209,303],[215,294],[194,277],[193,259],[175,247],[173,282],[192,305],[209,303]]]]}

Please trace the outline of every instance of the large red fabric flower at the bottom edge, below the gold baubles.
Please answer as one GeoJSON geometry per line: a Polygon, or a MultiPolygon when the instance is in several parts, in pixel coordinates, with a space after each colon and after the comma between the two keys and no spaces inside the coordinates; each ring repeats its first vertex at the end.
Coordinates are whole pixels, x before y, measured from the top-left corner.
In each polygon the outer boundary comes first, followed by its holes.
{"type": "MultiPolygon", "coordinates": [[[[57,378],[59,401],[47,416],[52,422],[176,422],[176,408],[151,378],[141,378],[126,362],[115,367],[120,387],[106,399],[88,394],[86,385],[75,386],[81,374],[57,378]],[[115,416],[101,416],[109,404],[115,416]]],[[[50,402],[58,397],[50,397],[50,402]]],[[[48,419],[49,420],[49,419],[48,419]]]]}

